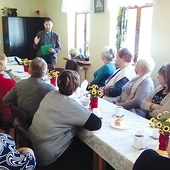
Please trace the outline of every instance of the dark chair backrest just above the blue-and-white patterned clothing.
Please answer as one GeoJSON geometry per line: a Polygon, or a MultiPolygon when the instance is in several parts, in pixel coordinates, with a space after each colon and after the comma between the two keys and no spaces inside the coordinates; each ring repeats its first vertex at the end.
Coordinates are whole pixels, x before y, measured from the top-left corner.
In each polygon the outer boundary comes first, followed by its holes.
{"type": "Polygon", "coordinates": [[[33,149],[33,144],[29,133],[24,130],[21,126],[14,123],[14,130],[16,132],[15,143],[16,148],[29,147],[33,149]]]}

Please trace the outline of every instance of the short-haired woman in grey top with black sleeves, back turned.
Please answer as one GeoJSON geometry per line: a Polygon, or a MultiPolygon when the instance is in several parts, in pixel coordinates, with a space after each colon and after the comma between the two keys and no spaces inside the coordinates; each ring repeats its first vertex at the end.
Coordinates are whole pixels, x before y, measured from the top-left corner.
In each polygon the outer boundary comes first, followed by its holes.
{"type": "Polygon", "coordinates": [[[59,91],[49,92],[33,117],[29,134],[41,169],[92,170],[93,152],[75,136],[80,127],[100,129],[101,120],[69,97],[79,84],[76,71],[63,71],[59,91]]]}

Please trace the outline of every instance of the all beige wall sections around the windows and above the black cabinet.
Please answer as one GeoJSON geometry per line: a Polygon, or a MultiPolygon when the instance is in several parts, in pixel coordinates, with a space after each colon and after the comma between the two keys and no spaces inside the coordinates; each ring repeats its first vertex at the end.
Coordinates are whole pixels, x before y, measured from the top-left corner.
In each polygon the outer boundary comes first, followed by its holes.
{"type": "MultiPolygon", "coordinates": [[[[100,58],[101,49],[109,44],[109,11],[107,10],[107,0],[105,0],[105,12],[94,13],[93,0],[91,0],[91,22],[90,22],[90,62],[91,66],[87,71],[87,79],[91,81],[93,72],[103,63],[100,58]]],[[[61,13],[62,0],[1,0],[0,8],[14,7],[18,9],[18,16],[34,16],[34,11],[39,9],[41,16],[50,16],[53,18],[53,30],[58,32],[61,37],[62,51],[59,53],[58,67],[63,67],[65,61],[63,57],[67,56],[67,15],[61,13]]],[[[153,10],[153,26],[151,38],[151,57],[156,61],[155,71],[152,74],[157,86],[157,70],[169,61],[169,40],[170,40],[170,22],[169,22],[169,0],[156,0],[153,10]]],[[[2,14],[0,13],[0,16],[2,14]]],[[[0,22],[1,18],[0,18],[0,22]]],[[[0,29],[0,51],[3,51],[2,45],[2,26],[0,29]]]]}

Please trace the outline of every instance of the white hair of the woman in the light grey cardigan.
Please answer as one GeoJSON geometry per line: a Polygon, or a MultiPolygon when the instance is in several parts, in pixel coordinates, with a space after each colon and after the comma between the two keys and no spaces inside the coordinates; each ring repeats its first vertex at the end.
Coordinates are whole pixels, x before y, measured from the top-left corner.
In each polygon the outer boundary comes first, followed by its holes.
{"type": "Polygon", "coordinates": [[[144,68],[145,73],[152,73],[155,68],[155,61],[151,57],[140,58],[137,63],[144,68]]]}

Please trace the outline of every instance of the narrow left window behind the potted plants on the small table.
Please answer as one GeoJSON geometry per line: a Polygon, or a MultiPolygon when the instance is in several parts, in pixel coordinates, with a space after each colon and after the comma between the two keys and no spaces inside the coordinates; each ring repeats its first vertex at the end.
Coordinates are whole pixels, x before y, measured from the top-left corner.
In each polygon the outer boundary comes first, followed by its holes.
{"type": "Polygon", "coordinates": [[[75,47],[80,50],[83,55],[89,55],[87,49],[89,43],[90,16],[89,12],[76,13],[75,22],[75,47]]]}

